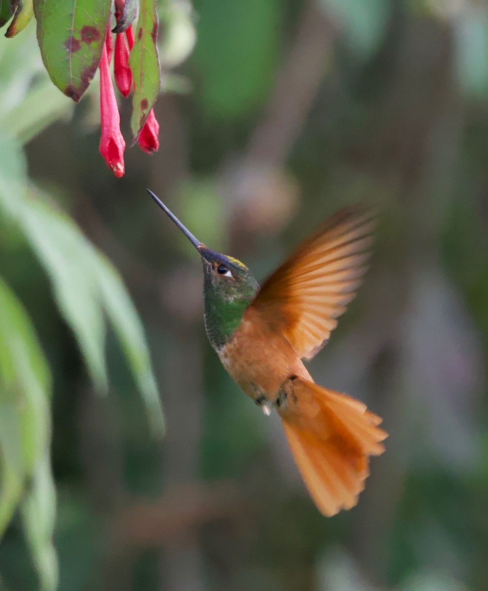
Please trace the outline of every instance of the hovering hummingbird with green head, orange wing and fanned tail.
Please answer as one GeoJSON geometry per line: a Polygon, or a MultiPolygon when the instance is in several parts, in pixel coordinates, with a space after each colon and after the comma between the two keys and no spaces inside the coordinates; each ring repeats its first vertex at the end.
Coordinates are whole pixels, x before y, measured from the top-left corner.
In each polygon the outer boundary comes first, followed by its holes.
{"type": "Polygon", "coordinates": [[[335,213],[260,288],[242,262],[198,241],[147,191],[201,256],[205,328],[222,365],[265,414],[277,411],[322,515],[352,508],[387,433],[363,402],[315,384],[302,360],[327,344],[356,295],[374,216],[363,206],[335,213]]]}

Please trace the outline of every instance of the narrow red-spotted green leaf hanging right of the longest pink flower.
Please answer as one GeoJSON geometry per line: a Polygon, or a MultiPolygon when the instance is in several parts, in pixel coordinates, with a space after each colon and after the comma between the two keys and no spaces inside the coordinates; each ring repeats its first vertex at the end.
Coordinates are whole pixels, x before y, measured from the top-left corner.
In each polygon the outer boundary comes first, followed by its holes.
{"type": "Polygon", "coordinates": [[[132,144],[137,141],[159,92],[160,69],[157,54],[157,30],[156,0],[141,0],[141,13],[135,30],[135,43],[129,57],[135,85],[132,98],[132,144]]]}

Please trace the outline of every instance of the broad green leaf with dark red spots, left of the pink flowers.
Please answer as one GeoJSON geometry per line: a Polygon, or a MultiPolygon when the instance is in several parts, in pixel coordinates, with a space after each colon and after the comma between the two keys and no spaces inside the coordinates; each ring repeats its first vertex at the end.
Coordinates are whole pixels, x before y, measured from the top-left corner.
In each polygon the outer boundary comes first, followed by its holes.
{"type": "Polygon", "coordinates": [[[75,102],[95,76],[111,6],[111,0],[34,0],[44,66],[75,102]]]}

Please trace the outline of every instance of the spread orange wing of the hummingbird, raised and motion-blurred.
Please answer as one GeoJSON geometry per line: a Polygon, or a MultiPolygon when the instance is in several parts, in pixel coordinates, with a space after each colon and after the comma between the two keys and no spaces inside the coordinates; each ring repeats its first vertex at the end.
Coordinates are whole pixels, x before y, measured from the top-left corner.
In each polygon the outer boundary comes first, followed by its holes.
{"type": "Polygon", "coordinates": [[[327,343],[337,317],[356,295],[373,238],[364,207],[342,209],[267,278],[250,304],[286,337],[300,358],[327,343]]]}

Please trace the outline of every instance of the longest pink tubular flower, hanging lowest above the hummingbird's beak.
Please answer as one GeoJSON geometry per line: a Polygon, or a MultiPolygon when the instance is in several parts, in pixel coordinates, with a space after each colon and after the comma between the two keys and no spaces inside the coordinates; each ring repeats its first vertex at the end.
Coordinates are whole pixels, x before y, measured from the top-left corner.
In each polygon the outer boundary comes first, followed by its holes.
{"type": "MultiPolygon", "coordinates": [[[[108,31],[107,36],[110,35],[108,31]]],[[[100,115],[102,122],[102,137],[99,151],[105,158],[108,167],[114,171],[116,177],[124,176],[125,141],[120,132],[120,117],[115,100],[114,86],[108,68],[106,43],[102,48],[100,60],[100,115]]]]}

